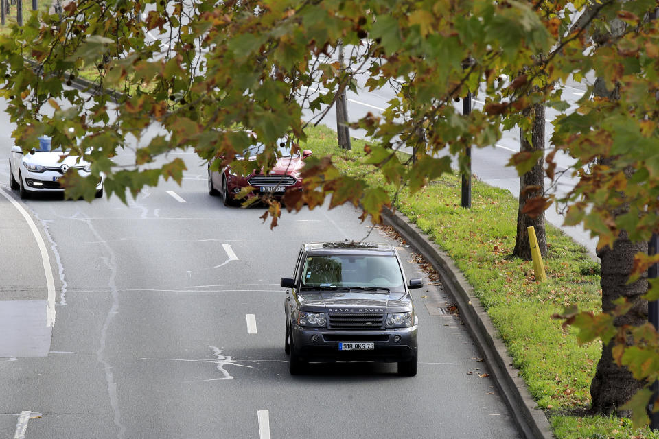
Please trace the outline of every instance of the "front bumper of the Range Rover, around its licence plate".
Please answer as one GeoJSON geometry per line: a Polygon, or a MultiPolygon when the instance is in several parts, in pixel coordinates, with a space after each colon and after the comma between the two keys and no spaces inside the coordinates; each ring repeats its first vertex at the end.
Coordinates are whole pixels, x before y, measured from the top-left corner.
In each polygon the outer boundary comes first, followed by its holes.
{"type": "Polygon", "coordinates": [[[411,359],[417,352],[417,326],[375,331],[334,331],[292,325],[295,351],[304,361],[378,361],[411,359]],[[316,341],[313,341],[313,338],[316,341]],[[396,337],[400,341],[396,342],[396,337]],[[373,342],[371,351],[339,351],[339,342],[373,342]]]}

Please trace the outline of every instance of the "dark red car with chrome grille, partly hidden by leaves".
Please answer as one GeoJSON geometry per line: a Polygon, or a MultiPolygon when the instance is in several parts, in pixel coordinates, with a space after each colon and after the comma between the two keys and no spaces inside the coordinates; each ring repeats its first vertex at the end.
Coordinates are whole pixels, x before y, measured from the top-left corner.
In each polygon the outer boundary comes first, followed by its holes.
{"type": "MultiPolygon", "coordinates": [[[[262,152],[264,145],[258,143],[250,150],[250,155],[236,156],[237,160],[256,159],[256,154],[262,152]]],[[[250,197],[271,194],[275,198],[281,198],[287,191],[301,191],[302,178],[299,172],[304,167],[303,161],[310,156],[310,150],[303,150],[291,154],[290,147],[286,141],[279,141],[279,150],[277,152],[277,163],[270,170],[269,174],[262,174],[258,169],[248,176],[235,174],[231,167],[226,166],[221,171],[211,171],[211,165],[208,165],[208,193],[212,196],[222,195],[225,206],[238,204],[235,196],[244,188],[251,186],[254,188],[250,197]]]]}

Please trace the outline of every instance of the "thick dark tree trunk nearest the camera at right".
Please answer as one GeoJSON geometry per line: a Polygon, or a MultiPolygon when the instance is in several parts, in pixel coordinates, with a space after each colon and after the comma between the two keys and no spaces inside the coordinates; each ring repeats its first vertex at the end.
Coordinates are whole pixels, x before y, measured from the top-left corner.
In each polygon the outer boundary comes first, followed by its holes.
{"type": "MultiPolygon", "coordinates": [[[[624,209],[618,214],[623,211],[624,209]]],[[[629,241],[625,230],[621,231],[614,242],[613,249],[607,246],[597,251],[601,260],[602,311],[614,309],[613,302],[620,297],[625,297],[634,304],[629,313],[616,318],[615,324],[618,327],[625,324],[638,326],[647,322],[647,300],[640,298],[647,292],[647,277],[643,276],[627,285],[634,254],[637,252],[647,252],[647,242],[629,241]]],[[[631,343],[631,340],[627,343],[631,343]]],[[[590,384],[592,410],[597,413],[620,414],[619,407],[642,387],[642,383],[632,377],[632,372],[626,367],[618,366],[613,360],[611,350],[614,345],[615,339],[602,347],[602,357],[597,363],[597,370],[590,384]]]]}

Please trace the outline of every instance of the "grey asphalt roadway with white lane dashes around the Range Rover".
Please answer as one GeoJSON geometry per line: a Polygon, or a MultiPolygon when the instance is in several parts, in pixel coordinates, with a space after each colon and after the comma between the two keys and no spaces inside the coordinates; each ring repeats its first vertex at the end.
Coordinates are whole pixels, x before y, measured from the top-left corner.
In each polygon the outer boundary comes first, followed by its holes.
{"type": "MultiPolygon", "coordinates": [[[[6,157],[5,115],[0,127],[6,157]]],[[[209,197],[204,165],[181,157],[189,168],[182,187],[163,182],[128,206],[117,198],[21,202],[55,277],[51,338],[34,339],[23,324],[43,309],[18,312],[7,293],[22,286],[29,297],[21,298],[39,302],[46,287],[34,239],[0,198],[0,242],[9,249],[0,301],[19,316],[14,343],[0,352],[0,438],[23,428],[25,438],[518,437],[459,318],[424,306],[449,301],[428,278],[413,290],[416,377],[369,363],[315,364],[291,377],[279,278],[290,275],[301,242],[362,239],[370,228],[344,206],[284,214],[271,231],[262,208],[229,209],[209,197]],[[12,351],[25,343],[41,343],[47,356],[12,351]]],[[[9,193],[6,159],[0,181],[9,193]]],[[[407,276],[425,277],[404,244],[379,229],[369,240],[399,246],[407,276]]]]}

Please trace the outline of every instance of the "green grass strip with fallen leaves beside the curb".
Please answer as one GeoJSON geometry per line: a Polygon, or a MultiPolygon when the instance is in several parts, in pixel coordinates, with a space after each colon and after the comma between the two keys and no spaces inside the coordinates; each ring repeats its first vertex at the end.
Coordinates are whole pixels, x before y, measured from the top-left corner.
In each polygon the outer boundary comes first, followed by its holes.
{"type": "MultiPolygon", "coordinates": [[[[321,156],[332,154],[340,171],[393,195],[394,188],[362,163],[364,141],[353,139],[353,149],[346,151],[338,148],[336,133],[329,128],[310,128],[307,133],[303,148],[321,156]]],[[[403,190],[396,209],[446,250],[474,287],[557,438],[659,438],[649,429],[632,432],[628,419],[572,415],[590,407],[590,381],[601,342],[579,344],[575,333],[564,331],[562,321],[551,316],[570,305],[601,308],[599,264],[585,248],[547,224],[548,281],[536,283],[533,263],[511,257],[518,200],[509,191],[478,180],[472,184],[471,209],[461,207],[460,196],[459,176],[446,175],[414,195],[403,190]]]]}

